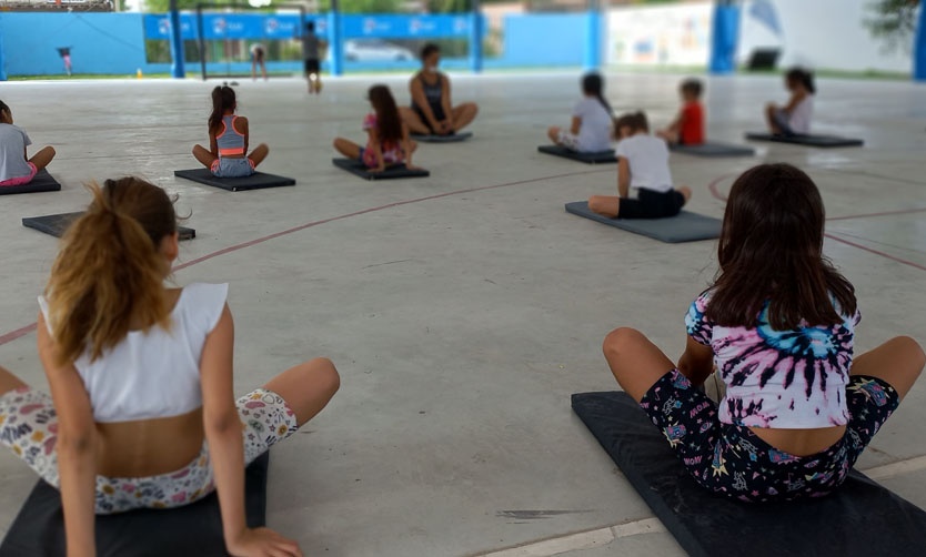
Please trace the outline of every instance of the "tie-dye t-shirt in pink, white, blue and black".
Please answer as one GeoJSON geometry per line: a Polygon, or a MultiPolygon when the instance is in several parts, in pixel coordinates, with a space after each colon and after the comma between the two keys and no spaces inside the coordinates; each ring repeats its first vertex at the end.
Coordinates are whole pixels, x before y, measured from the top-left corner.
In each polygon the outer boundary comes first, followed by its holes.
{"type": "Polygon", "coordinates": [[[858,312],[833,326],[775,331],[766,302],[755,327],[727,327],[705,316],[709,300],[708,291],[692,303],[685,325],[692,338],[714,351],[726,383],[722,423],[799,429],[848,422],[846,384],[858,312]]]}

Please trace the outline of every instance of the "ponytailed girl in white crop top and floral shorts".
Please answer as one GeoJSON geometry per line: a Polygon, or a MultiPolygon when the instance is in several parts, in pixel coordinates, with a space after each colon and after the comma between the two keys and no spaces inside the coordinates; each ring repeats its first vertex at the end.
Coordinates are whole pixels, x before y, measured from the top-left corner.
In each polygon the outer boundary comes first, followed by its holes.
{"type": "Polygon", "coordinates": [[[90,188],[39,297],[51,396],[0,367],[0,442],[61,490],[68,555],[97,555],[94,514],[188,505],[219,492],[232,555],[302,555],[249,528],[244,467],[334,395],[316,358],[234,398],[227,284],[164,286],[177,260],[173,202],[135,178],[90,188]]]}

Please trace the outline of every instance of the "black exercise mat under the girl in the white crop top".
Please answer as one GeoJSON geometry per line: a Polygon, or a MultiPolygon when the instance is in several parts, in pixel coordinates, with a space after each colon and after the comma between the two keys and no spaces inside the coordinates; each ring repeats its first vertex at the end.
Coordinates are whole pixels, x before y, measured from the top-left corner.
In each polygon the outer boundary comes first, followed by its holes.
{"type": "MultiPolygon", "coordinates": [[[[245,470],[248,526],[266,525],[264,453],[245,470]]],[[[213,493],[172,509],[139,509],[97,516],[97,555],[101,557],[227,556],[219,498],[213,493]]],[[[64,515],[58,489],[36,485],[0,545],[0,557],[64,556],[64,515]]]]}

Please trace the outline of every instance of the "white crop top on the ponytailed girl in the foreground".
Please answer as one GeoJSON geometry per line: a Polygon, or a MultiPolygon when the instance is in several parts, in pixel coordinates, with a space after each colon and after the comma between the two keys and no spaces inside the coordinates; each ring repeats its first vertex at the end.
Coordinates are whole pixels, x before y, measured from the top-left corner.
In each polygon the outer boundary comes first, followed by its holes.
{"type": "MultiPolygon", "coordinates": [[[[202,406],[200,357],[215,328],[228,284],[194,283],[180,292],[170,330],[132,331],[94,362],[74,362],[99,423],[171,417],[202,406]]],[[[48,303],[39,296],[48,322],[48,303]]],[[[49,324],[49,327],[51,325],[49,324]]]]}

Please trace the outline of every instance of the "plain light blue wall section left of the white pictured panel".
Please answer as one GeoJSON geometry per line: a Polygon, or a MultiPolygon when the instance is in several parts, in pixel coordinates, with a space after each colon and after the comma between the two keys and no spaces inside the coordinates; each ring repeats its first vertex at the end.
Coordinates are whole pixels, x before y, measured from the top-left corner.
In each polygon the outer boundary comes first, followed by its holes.
{"type": "Polygon", "coordinates": [[[587,19],[585,13],[505,17],[503,63],[582,65],[587,19]]]}

